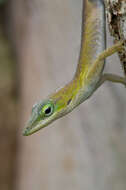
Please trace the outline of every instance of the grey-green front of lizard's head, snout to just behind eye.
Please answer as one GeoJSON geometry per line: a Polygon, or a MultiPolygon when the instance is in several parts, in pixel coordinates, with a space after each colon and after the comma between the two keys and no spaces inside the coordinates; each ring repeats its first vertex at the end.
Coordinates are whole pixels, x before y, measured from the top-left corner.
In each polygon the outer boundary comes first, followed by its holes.
{"type": "Polygon", "coordinates": [[[56,119],[57,114],[57,104],[52,100],[45,100],[35,104],[32,108],[30,119],[23,131],[23,135],[31,135],[41,128],[46,127],[56,119]]]}

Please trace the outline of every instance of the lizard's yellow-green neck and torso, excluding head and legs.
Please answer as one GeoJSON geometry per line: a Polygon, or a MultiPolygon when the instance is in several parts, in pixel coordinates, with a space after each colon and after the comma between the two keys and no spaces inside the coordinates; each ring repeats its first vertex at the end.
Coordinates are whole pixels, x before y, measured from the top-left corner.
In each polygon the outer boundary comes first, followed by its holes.
{"type": "Polygon", "coordinates": [[[84,1],[82,40],[80,57],[72,81],[54,93],[51,98],[58,101],[64,112],[71,111],[95,91],[104,68],[104,62],[88,75],[94,61],[105,49],[105,11],[101,0],[84,1]]]}

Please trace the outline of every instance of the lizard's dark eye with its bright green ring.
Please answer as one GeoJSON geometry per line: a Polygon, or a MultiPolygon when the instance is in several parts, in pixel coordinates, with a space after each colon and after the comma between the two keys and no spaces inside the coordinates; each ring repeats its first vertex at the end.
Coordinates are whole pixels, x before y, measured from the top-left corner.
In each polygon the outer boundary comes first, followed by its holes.
{"type": "Polygon", "coordinates": [[[53,114],[54,112],[54,105],[52,103],[47,103],[46,105],[44,105],[42,107],[41,110],[42,114],[46,117],[50,116],[53,114]]]}

